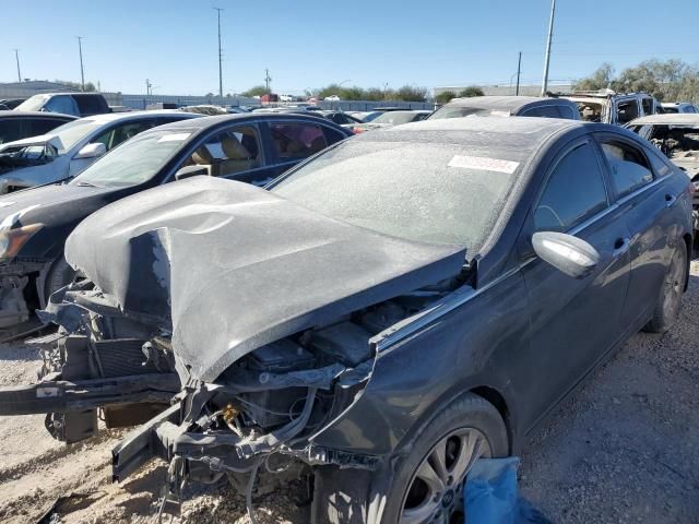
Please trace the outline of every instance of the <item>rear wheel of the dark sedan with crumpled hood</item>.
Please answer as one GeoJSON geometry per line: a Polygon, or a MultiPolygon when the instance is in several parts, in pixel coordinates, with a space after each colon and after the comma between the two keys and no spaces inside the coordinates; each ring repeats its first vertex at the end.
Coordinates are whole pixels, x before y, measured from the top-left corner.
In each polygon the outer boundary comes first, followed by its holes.
{"type": "Polygon", "coordinates": [[[682,310],[682,296],[687,282],[687,245],[680,240],[663,278],[653,317],[643,327],[650,333],[665,333],[677,320],[682,310]]]}

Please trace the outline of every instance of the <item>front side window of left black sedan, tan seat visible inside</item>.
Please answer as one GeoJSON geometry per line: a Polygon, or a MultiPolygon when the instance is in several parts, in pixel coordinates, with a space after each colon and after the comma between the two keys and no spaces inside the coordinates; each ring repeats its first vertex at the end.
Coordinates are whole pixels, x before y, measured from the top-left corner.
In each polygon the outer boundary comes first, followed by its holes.
{"type": "Polygon", "coordinates": [[[227,177],[262,166],[260,135],[252,126],[236,126],[211,136],[185,165],[205,167],[213,177],[227,177]]]}

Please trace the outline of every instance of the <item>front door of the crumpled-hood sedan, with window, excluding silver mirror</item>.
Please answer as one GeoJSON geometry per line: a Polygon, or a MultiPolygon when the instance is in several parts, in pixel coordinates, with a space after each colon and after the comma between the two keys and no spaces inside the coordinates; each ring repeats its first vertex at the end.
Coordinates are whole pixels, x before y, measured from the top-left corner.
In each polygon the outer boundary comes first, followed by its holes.
{"type": "Polygon", "coordinates": [[[528,398],[522,416],[537,420],[620,338],[629,284],[624,217],[609,206],[602,160],[590,139],[571,142],[547,168],[519,240],[530,301],[531,345],[517,355],[516,391],[528,398]],[[538,259],[536,231],[574,235],[592,245],[601,261],[592,275],[572,278],[538,259]]]}

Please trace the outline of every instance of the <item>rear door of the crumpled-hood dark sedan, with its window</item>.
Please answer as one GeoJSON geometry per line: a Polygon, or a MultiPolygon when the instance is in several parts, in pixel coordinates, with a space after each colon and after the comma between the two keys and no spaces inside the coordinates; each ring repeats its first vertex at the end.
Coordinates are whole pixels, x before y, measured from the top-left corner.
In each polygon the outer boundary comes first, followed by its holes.
{"type": "Polygon", "coordinates": [[[595,139],[630,231],[631,279],[623,322],[632,325],[649,314],[667,273],[677,195],[663,183],[671,169],[654,152],[615,133],[596,133],[595,139]]]}

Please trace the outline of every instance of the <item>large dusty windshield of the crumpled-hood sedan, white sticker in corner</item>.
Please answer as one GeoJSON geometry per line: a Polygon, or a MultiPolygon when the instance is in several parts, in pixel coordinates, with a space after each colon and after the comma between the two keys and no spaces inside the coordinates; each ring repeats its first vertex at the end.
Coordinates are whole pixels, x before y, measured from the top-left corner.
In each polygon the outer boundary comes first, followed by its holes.
{"type": "Polygon", "coordinates": [[[461,144],[348,141],[272,191],[313,211],[408,240],[476,252],[519,164],[461,144]]]}

